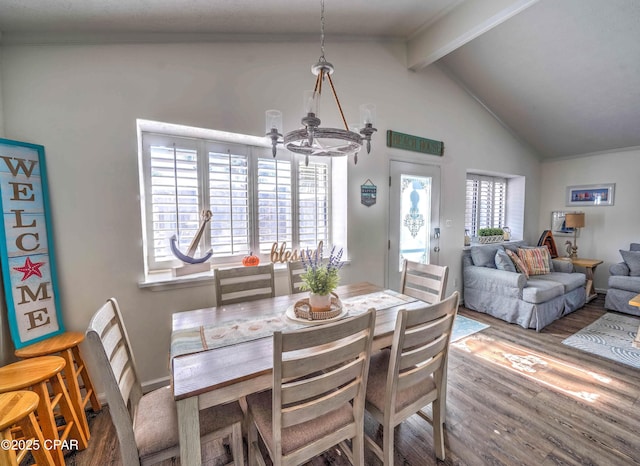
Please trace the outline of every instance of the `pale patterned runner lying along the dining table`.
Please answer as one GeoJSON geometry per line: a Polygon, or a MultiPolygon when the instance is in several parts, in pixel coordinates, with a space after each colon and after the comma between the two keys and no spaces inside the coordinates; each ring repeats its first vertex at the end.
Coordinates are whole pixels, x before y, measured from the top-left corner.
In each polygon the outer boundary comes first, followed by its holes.
{"type": "MultiPolygon", "coordinates": [[[[384,290],[352,298],[341,299],[347,317],[357,316],[370,308],[388,309],[417,301],[397,291],[384,290]]],[[[271,316],[255,319],[238,319],[222,325],[204,325],[200,327],[176,330],[171,334],[171,357],[199,353],[222,346],[235,345],[245,341],[258,340],[273,335],[278,330],[295,330],[308,327],[309,324],[294,322],[285,316],[285,308],[274,310],[271,316]]]]}

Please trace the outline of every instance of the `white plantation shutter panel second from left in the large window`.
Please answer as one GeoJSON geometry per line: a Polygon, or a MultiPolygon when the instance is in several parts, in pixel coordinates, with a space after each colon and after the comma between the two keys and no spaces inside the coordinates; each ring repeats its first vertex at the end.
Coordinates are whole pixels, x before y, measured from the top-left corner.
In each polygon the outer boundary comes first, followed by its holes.
{"type": "MultiPolygon", "coordinates": [[[[234,148],[237,152],[237,148],[234,148]]],[[[213,257],[246,255],[251,249],[249,158],[228,149],[208,153],[213,257]]]]}

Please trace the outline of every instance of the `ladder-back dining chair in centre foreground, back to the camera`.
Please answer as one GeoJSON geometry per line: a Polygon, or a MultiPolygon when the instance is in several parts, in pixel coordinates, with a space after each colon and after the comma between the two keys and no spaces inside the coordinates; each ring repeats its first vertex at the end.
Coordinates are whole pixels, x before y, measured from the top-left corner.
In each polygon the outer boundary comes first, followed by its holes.
{"type": "Polygon", "coordinates": [[[375,310],[273,335],[273,390],[247,396],[249,466],[299,465],[334,445],[364,466],[364,396],[375,310]],[[346,440],[351,439],[351,448],[346,440]]]}

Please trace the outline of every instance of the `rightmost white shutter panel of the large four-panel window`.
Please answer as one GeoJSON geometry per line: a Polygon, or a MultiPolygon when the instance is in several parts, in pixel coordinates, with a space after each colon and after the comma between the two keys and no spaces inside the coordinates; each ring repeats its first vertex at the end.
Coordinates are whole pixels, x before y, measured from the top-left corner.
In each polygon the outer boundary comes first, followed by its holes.
{"type": "Polygon", "coordinates": [[[329,165],[298,164],[298,224],[301,249],[329,246],[329,165]]]}

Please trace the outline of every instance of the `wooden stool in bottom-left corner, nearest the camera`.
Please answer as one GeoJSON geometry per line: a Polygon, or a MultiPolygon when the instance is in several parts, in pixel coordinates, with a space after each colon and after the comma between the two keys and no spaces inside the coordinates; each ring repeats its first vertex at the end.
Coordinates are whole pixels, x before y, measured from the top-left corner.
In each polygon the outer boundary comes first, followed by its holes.
{"type": "Polygon", "coordinates": [[[42,431],[33,412],[37,409],[40,398],[34,392],[18,391],[0,394],[0,440],[12,442],[11,448],[0,448],[0,464],[18,466],[31,452],[31,456],[40,466],[53,466],[53,458],[44,442],[42,431]],[[12,426],[22,430],[24,438],[14,439],[11,435],[12,426]],[[18,441],[14,441],[18,440],[18,441]],[[24,441],[24,443],[20,443],[24,441]],[[28,448],[18,449],[16,446],[28,445],[28,448]],[[19,452],[19,453],[16,453],[19,452]]]}

